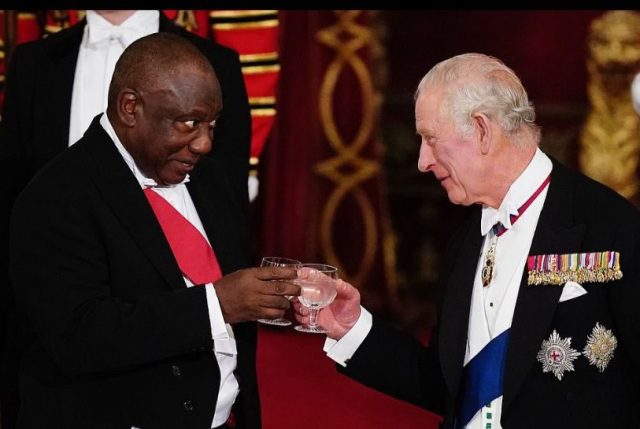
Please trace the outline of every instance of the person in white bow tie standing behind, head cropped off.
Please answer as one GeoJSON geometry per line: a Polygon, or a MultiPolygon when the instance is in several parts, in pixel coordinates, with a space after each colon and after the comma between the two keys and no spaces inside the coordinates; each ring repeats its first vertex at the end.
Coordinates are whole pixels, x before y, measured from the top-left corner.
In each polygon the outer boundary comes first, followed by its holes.
{"type": "Polygon", "coordinates": [[[0,122],[0,419],[13,429],[21,336],[8,281],[10,208],[33,175],[76,143],[107,106],[114,66],[134,40],[156,32],[194,43],[216,70],[224,111],[209,156],[235,163],[238,188],[247,186],[251,117],[238,53],[175,25],[158,10],[87,10],[86,17],[45,39],[21,43],[7,64],[0,122]],[[5,335],[6,334],[6,335],[5,335]]]}

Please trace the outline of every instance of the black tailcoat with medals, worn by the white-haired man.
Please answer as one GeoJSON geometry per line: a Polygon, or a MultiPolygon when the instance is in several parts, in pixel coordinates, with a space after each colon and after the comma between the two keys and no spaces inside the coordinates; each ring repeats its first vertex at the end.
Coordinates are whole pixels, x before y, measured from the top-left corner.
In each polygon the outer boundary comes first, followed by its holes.
{"type": "MultiPolygon", "coordinates": [[[[455,427],[473,278],[480,254],[481,210],[446,252],[439,324],[429,347],[379,320],[341,371],[378,390],[444,416],[455,427]]],[[[620,252],[623,278],[584,283],[586,295],[559,303],[561,286],[527,286],[526,267],[504,369],[502,427],[614,429],[640,427],[640,218],[625,199],[554,162],[530,255],[620,252]],[[596,323],[618,340],[603,372],[584,356],[558,380],[536,355],[556,330],[582,352],[596,323]]],[[[461,429],[460,425],[457,429],[461,429]]]]}

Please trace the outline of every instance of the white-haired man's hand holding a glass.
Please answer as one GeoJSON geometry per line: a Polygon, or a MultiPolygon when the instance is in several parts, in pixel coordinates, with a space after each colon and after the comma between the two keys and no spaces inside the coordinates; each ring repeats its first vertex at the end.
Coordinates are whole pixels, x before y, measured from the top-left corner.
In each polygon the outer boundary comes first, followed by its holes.
{"type": "MultiPolygon", "coordinates": [[[[298,271],[298,275],[302,270],[298,271]]],[[[360,292],[344,280],[336,280],[337,295],[333,302],[320,310],[318,325],[327,331],[327,336],[334,340],[342,338],[360,317],[360,292]]],[[[309,309],[305,308],[297,299],[293,300],[296,320],[303,325],[309,323],[309,309]]]]}

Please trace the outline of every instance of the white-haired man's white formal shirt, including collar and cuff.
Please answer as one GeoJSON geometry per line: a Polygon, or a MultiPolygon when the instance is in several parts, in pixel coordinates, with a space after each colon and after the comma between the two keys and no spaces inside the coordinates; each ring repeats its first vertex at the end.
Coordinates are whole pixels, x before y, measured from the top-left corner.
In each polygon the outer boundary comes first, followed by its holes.
{"type": "MultiPolygon", "coordinates": [[[[482,208],[480,233],[485,237],[482,253],[478,259],[471,297],[469,331],[464,364],[466,365],[493,338],[511,327],[520,281],[529,248],[538,224],[540,212],[547,196],[546,186],[526,211],[512,225],[510,214],[517,214],[529,197],[535,193],[552,169],[551,160],[540,149],[518,178],[511,184],[500,208],[482,208]],[[507,231],[496,244],[495,269],[491,283],[482,286],[481,273],[485,255],[494,232],[491,227],[500,221],[507,231]]],[[[342,366],[353,356],[371,330],[371,314],[362,308],[360,318],[351,330],[339,341],[327,338],[324,351],[331,359],[342,366]]],[[[502,396],[496,398],[488,407],[483,407],[467,424],[467,429],[501,429],[502,396]],[[491,423],[487,426],[487,423],[491,423]]]]}

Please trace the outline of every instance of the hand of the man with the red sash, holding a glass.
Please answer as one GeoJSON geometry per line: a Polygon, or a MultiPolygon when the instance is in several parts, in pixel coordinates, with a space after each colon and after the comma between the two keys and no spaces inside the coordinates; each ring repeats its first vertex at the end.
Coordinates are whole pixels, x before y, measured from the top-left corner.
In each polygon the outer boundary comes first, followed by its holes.
{"type": "Polygon", "coordinates": [[[261,267],[235,271],[215,282],[227,323],[283,317],[291,306],[287,296],[300,295],[293,268],[261,267]],[[273,281],[277,280],[277,281],[273,281]]]}

